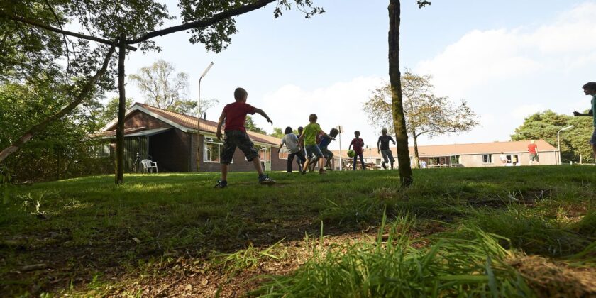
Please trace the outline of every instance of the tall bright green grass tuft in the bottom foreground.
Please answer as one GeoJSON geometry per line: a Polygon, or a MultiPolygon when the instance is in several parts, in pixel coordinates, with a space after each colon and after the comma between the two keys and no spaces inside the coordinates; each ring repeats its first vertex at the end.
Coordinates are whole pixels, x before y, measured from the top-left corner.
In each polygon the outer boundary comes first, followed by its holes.
{"type": "Polygon", "coordinates": [[[376,241],[340,245],[313,257],[289,276],[269,276],[252,294],[262,297],[532,296],[524,279],[506,263],[500,236],[468,228],[470,240],[436,238],[414,248],[414,220],[397,217],[376,241]],[[386,241],[385,241],[386,240],[386,241]]]}

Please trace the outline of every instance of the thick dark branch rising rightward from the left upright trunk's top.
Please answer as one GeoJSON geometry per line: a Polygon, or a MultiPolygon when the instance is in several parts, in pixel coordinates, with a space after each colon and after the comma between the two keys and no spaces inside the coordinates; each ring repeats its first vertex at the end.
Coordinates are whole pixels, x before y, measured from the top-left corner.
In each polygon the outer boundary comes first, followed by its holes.
{"type": "Polygon", "coordinates": [[[243,13],[248,13],[249,11],[254,11],[256,9],[260,9],[261,7],[267,6],[267,4],[270,4],[273,1],[275,1],[275,0],[260,0],[260,1],[256,1],[253,4],[247,4],[244,6],[240,6],[237,9],[230,9],[229,11],[223,11],[221,13],[217,13],[215,16],[208,18],[204,21],[190,22],[190,23],[185,23],[185,24],[178,25],[178,26],[165,28],[165,29],[158,30],[158,31],[153,31],[153,32],[150,32],[150,33],[147,33],[147,34],[141,36],[140,38],[128,40],[128,41],[126,41],[126,44],[132,45],[135,43],[141,43],[145,40],[154,38],[156,36],[163,36],[163,35],[175,33],[178,31],[184,31],[184,30],[193,29],[193,28],[203,28],[203,27],[211,26],[211,25],[218,23],[219,21],[222,21],[226,18],[231,18],[232,16],[238,16],[243,13]]]}

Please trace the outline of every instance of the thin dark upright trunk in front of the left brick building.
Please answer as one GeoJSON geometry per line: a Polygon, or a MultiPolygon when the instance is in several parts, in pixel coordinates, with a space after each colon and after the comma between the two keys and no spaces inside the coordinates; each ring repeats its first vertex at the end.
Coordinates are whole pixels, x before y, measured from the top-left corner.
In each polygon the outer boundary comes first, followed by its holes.
{"type": "Polygon", "coordinates": [[[124,90],[124,57],[126,56],[126,35],[120,35],[118,52],[118,123],[116,124],[116,184],[124,182],[124,111],[126,110],[126,94],[124,90]]]}

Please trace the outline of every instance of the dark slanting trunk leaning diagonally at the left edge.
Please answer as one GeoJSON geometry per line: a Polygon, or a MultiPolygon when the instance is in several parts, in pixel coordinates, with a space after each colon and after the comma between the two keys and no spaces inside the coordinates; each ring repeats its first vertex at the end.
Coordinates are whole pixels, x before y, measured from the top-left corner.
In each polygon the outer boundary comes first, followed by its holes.
{"type": "Polygon", "coordinates": [[[9,147],[4,148],[4,150],[2,150],[0,152],[0,162],[5,160],[6,158],[8,158],[9,155],[11,155],[12,153],[15,153],[21,147],[23,147],[23,145],[25,145],[25,143],[27,143],[29,140],[31,140],[31,138],[33,138],[33,136],[35,136],[37,133],[45,130],[45,128],[48,127],[48,125],[50,125],[50,123],[52,123],[53,121],[56,121],[57,119],[62,118],[62,116],[65,116],[66,114],[70,113],[70,111],[75,109],[81,103],[81,101],[83,101],[83,99],[85,97],[87,97],[89,92],[91,92],[91,89],[92,89],[93,85],[95,84],[95,82],[97,82],[97,79],[99,79],[99,77],[101,77],[102,75],[104,75],[106,73],[106,71],[108,69],[109,62],[110,62],[111,55],[114,54],[114,50],[115,50],[114,47],[110,48],[110,50],[106,54],[106,58],[104,59],[103,65],[101,65],[101,69],[98,70],[96,72],[96,74],[93,77],[91,77],[91,79],[89,79],[89,82],[87,82],[87,84],[84,85],[83,89],[81,90],[79,95],[77,95],[77,97],[75,97],[74,101],[72,101],[68,106],[65,106],[64,109],[61,109],[60,111],[58,111],[56,114],[53,114],[52,116],[49,116],[48,118],[45,118],[45,120],[43,120],[40,123],[36,124],[35,126],[29,128],[29,130],[26,131],[26,133],[23,133],[23,136],[21,136],[21,138],[18,138],[16,141],[14,141],[14,143],[9,145],[9,147]]]}

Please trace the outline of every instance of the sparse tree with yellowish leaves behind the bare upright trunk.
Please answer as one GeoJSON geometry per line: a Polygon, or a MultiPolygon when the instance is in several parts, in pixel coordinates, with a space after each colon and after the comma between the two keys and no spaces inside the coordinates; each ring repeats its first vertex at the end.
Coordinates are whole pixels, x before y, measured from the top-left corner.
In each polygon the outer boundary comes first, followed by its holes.
{"type": "MultiPolygon", "coordinates": [[[[431,76],[415,75],[406,70],[401,79],[402,103],[406,118],[406,131],[414,141],[414,167],[418,166],[418,138],[426,134],[434,136],[470,131],[478,125],[478,116],[465,101],[453,104],[447,97],[436,96],[431,76]]],[[[394,134],[392,126],[391,86],[385,84],[373,91],[364,105],[368,120],[376,128],[387,128],[394,134]]]]}

